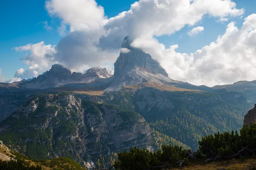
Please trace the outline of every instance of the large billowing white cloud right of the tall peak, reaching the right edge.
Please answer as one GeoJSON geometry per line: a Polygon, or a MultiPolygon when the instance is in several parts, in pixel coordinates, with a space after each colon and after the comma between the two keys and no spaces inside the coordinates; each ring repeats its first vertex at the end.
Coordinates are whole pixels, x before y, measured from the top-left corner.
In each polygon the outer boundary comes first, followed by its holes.
{"type": "Polygon", "coordinates": [[[177,53],[178,45],[165,48],[150,36],[132,45],[157,59],[172,79],[208,86],[256,79],[256,14],[246,17],[240,30],[230,22],[215,42],[192,54],[177,53]]]}

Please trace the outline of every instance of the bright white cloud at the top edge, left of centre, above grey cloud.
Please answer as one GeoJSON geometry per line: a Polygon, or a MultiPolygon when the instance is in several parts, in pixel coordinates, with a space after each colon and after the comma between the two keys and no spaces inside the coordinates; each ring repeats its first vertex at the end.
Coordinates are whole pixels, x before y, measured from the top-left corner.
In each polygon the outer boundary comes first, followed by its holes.
{"type": "Polygon", "coordinates": [[[95,0],[47,0],[46,8],[50,15],[63,20],[70,30],[94,30],[105,24],[104,8],[95,0]]]}

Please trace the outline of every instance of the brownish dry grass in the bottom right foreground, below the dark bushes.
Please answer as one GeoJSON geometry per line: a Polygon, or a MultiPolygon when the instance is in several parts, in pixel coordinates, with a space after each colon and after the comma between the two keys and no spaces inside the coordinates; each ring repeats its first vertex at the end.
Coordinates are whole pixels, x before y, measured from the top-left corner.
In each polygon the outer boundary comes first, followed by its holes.
{"type": "MultiPolygon", "coordinates": [[[[180,170],[175,168],[173,170],[180,170]]],[[[190,165],[182,170],[256,170],[256,159],[217,161],[204,165],[190,165]]]]}

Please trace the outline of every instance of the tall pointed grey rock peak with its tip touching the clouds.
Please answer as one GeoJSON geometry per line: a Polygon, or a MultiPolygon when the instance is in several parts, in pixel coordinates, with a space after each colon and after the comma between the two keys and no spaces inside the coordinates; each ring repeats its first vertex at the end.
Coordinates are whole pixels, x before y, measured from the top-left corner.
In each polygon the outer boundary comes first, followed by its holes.
{"type": "Polygon", "coordinates": [[[114,78],[108,91],[120,90],[124,86],[136,85],[143,82],[153,82],[167,85],[177,82],[168,77],[160,64],[139,48],[131,46],[129,37],[122,42],[120,55],[114,64],[114,78]]]}

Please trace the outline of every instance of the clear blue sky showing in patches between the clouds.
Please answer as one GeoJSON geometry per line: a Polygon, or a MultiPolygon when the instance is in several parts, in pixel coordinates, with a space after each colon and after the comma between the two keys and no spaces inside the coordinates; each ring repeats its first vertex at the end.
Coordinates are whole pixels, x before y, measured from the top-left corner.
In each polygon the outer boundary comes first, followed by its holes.
{"type": "MultiPolygon", "coordinates": [[[[122,11],[129,10],[135,0],[96,0],[104,7],[105,15],[114,17],[122,11]]],[[[256,13],[255,0],[233,0],[236,8],[244,8],[244,17],[256,13]]],[[[244,20],[234,17],[228,22],[217,23],[216,18],[204,16],[203,20],[196,26],[204,26],[203,33],[195,37],[189,37],[187,32],[193,27],[185,26],[180,31],[170,36],[163,35],[157,40],[168,48],[170,45],[178,44],[177,52],[194,53],[210,42],[215,41],[218,35],[224,34],[227,24],[235,21],[238,28],[244,20]]],[[[19,68],[28,68],[21,58],[25,52],[16,52],[13,48],[29,43],[44,41],[45,44],[56,45],[62,38],[58,33],[61,20],[50,17],[45,9],[44,0],[2,0],[0,2],[0,69],[1,76],[6,80],[11,79],[19,68]],[[43,22],[47,22],[51,29],[46,29],[43,22]]]]}

